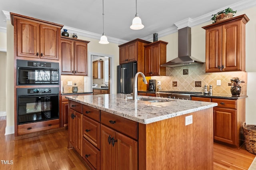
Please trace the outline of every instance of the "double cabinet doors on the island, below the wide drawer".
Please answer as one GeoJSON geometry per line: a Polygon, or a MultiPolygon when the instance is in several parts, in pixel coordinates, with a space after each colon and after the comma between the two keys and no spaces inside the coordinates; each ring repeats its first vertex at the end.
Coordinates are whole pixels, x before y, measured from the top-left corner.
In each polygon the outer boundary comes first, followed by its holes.
{"type": "Polygon", "coordinates": [[[104,125],[100,129],[101,169],[138,169],[138,142],[104,125]]]}

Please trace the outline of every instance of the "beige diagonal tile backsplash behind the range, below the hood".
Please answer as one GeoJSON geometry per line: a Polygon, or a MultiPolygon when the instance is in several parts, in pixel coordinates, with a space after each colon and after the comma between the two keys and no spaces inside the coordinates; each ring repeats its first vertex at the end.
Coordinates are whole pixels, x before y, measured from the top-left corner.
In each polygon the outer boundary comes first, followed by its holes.
{"type": "MultiPolygon", "coordinates": [[[[186,65],[182,67],[166,67],[166,76],[152,76],[151,79],[161,81],[162,91],[196,91],[204,92],[204,85],[212,85],[212,93],[231,94],[228,83],[232,77],[239,77],[245,83],[241,83],[241,95],[246,95],[247,73],[243,71],[222,72],[222,73],[205,73],[205,63],[198,65],[186,65]],[[184,69],[188,74],[184,75],[184,69]],[[216,81],[220,80],[221,85],[217,86],[216,81]],[[201,81],[201,87],[195,87],[196,81],[201,81]],[[173,86],[173,82],[177,82],[173,86]]],[[[197,84],[198,86],[198,84],[197,84]]]]}

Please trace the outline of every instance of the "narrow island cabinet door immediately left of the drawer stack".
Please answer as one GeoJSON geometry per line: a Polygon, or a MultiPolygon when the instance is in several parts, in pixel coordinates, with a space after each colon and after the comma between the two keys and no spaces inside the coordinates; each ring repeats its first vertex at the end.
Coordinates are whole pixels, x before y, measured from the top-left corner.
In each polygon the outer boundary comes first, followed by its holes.
{"type": "Polygon", "coordinates": [[[83,136],[83,129],[82,129],[82,124],[83,124],[83,118],[82,114],[79,112],[76,112],[76,117],[75,117],[75,149],[76,151],[80,154],[80,156],[83,156],[83,150],[82,150],[82,136],[83,136]]]}

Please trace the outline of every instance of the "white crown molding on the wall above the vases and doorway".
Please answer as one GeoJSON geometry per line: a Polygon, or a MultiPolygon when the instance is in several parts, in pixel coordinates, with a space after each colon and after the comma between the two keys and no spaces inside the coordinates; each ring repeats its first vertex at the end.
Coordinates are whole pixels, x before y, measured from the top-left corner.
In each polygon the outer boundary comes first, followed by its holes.
{"type": "MultiPolygon", "coordinates": [[[[63,26],[62,30],[63,29],[68,30],[68,32],[76,33],[77,35],[80,35],[80,36],[94,38],[94,39],[98,39],[98,40],[100,40],[100,37],[102,36],[102,34],[96,34],[93,32],[88,32],[85,30],[80,30],[80,29],[76,29],[76,28],[72,28],[72,27],[68,27],[68,26],[63,26]]],[[[108,37],[108,41],[112,42],[112,43],[123,44],[123,43],[128,42],[126,40],[121,40],[118,38],[113,38],[113,37],[109,37],[109,36],[107,36],[107,37],[108,37]]]]}

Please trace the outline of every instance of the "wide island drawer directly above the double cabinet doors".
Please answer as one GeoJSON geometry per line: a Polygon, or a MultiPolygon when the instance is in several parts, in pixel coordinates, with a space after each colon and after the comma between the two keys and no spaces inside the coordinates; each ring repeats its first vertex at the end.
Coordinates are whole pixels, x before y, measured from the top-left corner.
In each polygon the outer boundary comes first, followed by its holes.
{"type": "Polygon", "coordinates": [[[111,113],[107,113],[101,111],[101,122],[123,134],[126,134],[134,139],[138,138],[138,123],[131,121],[129,119],[125,119],[120,116],[113,115],[111,113]]]}

